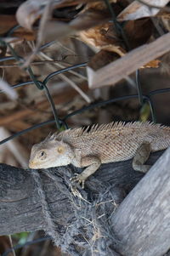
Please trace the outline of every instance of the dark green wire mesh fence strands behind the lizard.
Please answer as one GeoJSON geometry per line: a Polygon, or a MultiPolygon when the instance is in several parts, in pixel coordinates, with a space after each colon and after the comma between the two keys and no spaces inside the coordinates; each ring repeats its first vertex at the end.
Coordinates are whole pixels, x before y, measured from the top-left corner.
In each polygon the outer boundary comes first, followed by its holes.
{"type": "MultiPolygon", "coordinates": [[[[122,29],[122,24],[119,23],[117,20],[116,20],[116,14],[114,13],[114,10],[112,9],[111,7],[111,3],[108,1],[108,0],[104,0],[105,1],[105,4],[107,6],[107,8],[110,10],[111,12],[111,16],[112,16],[112,20],[113,20],[113,23],[114,23],[114,26],[116,28],[116,32],[117,34],[121,35],[122,36],[122,39],[124,40],[124,42],[126,43],[127,45],[127,48],[129,48],[129,45],[128,45],[128,42],[127,42],[127,37],[126,35],[124,34],[124,31],[122,29]]],[[[11,36],[11,34],[17,30],[18,28],[20,28],[19,25],[17,26],[14,26],[13,28],[11,28],[7,33],[6,33],[6,37],[9,37],[11,36]]],[[[2,39],[1,39],[2,41],[2,39]]],[[[51,44],[53,44],[55,41],[53,42],[48,42],[48,43],[45,43],[43,44],[40,49],[42,50],[42,48],[47,48],[48,46],[50,46],[51,44]]],[[[14,50],[14,48],[11,46],[10,43],[5,43],[3,42],[4,44],[6,44],[8,46],[8,48],[10,49],[11,51],[11,56],[8,56],[8,57],[2,57],[0,58],[0,62],[2,61],[8,61],[8,60],[16,60],[18,65],[22,65],[23,62],[25,61],[22,57],[19,56],[19,54],[17,54],[14,50]]],[[[33,125],[31,126],[31,128],[27,128],[25,130],[22,130],[20,131],[19,133],[16,133],[16,134],[13,134],[11,136],[9,136],[8,138],[6,139],[3,139],[0,141],[0,145],[2,145],[3,143],[7,142],[8,140],[10,139],[14,139],[18,136],[20,136],[21,134],[26,134],[27,132],[33,130],[33,129],[36,129],[36,128],[40,128],[44,125],[47,125],[49,123],[56,123],[56,126],[57,128],[59,129],[62,125],[65,127],[65,128],[68,128],[67,126],[67,123],[66,123],[66,120],[69,118],[69,117],[72,117],[72,116],[75,116],[77,114],[81,114],[83,111],[88,111],[88,110],[92,110],[94,109],[95,107],[100,107],[100,106],[103,106],[103,105],[107,105],[107,104],[111,104],[113,102],[117,102],[117,101],[120,101],[120,100],[129,100],[129,99],[134,99],[134,98],[139,98],[139,103],[141,105],[141,107],[146,103],[148,102],[148,104],[150,105],[150,113],[151,113],[151,118],[152,118],[152,121],[153,122],[156,122],[156,111],[155,111],[155,107],[154,107],[154,104],[151,100],[151,96],[154,95],[154,94],[162,94],[162,93],[167,93],[167,91],[170,91],[170,88],[162,88],[162,89],[159,89],[159,90],[155,90],[155,91],[152,91],[150,92],[148,95],[144,95],[142,94],[142,89],[141,89],[141,86],[140,86],[140,77],[139,77],[139,70],[136,71],[136,87],[137,87],[137,91],[138,91],[138,94],[137,95],[128,95],[128,96],[123,96],[123,97],[119,97],[119,98],[116,98],[116,99],[111,99],[111,100],[104,100],[102,102],[99,102],[99,103],[95,103],[95,104],[91,104],[91,105],[88,105],[88,106],[85,106],[83,107],[82,109],[80,110],[77,110],[77,111],[73,111],[71,112],[69,115],[63,117],[63,118],[59,118],[58,117],[58,114],[57,114],[57,111],[55,109],[55,105],[54,105],[54,101],[53,101],[53,98],[49,92],[49,89],[47,87],[47,83],[48,81],[54,77],[54,76],[57,76],[61,73],[64,73],[66,71],[71,71],[73,69],[76,69],[76,68],[81,68],[81,67],[84,67],[88,65],[87,62],[84,62],[84,63],[80,63],[80,64],[77,64],[77,65],[71,65],[69,67],[66,67],[66,68],[63,68],[59,71],[54,71],[52,73],[50,73],[47,77],[45,77],[45,79],[43,81],[38,81],[37,80],[37,77],[35,77],[32,69],[31,69],[31,66],[28,66],[26,68],[26,71],[28,72],[29,76],[31,77],[31,81],[28,81],[28,82],[20,82],[20,83],[17,83],[13,86],[11,86],[11,88],[20,88],[22,86],[25,86],[25,85],[30,85],[30,84],[35,84],[37,86],[38,89],[40,90],[44,90],[45,91],[45,94],[48,98],[48,101],[49,101],[49,104],[51,105],[51,109],[52,109],[52,112],[54,114],[54,120],[48,120],[46,122],[41,122],[41,123],[38,123],[36,125],[33,125]]],[[[3,93],[3,91],[0,90],[0,93],[3,93]]]]}

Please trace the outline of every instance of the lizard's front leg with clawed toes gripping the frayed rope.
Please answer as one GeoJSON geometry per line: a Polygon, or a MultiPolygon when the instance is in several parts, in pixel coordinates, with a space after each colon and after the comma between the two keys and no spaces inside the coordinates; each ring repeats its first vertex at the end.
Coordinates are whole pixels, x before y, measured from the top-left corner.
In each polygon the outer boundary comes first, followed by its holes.
{"type": "Polygon", "coordinates": [[[87,167],[82,171],[82,174],[76,174],[75,177],[71,178],[71,181],[78,181],[79,184],[82,183],[82,189],[84,188],[85,180],[88,176],[95,173],[95,171],[101,165],[101,161],[98,156],[84,156],[81,159],[81,166],[87,167]]]}

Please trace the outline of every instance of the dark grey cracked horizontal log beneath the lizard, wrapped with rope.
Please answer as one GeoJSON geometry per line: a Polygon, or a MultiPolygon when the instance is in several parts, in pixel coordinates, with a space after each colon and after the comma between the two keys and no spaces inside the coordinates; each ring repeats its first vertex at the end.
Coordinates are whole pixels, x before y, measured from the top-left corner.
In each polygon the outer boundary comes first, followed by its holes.
{"type": "MultiPolygon", "coordinates": [[[[151,162],[155,162],[162,151],[152,154],[151,162]]],[[[69,182],[71,167],[51,168],[59,184],[65,185],[65,179],[69,182]],[[68,175],[68,176],[67,176],[68,175]]],[[[45,171],[39,172],[42,179],[42,186],[47,197],[48,206],[54,219],[60,225],[66,225],[68,219],[74,217],[69,196],[59,191],[54,180],[50,179],[45,171]]],[[[120,191],[128,192],[143,177],[143,174],[132,169],[132,161],[116,162],[102,165],[98,172],[88,179],[85,191],[99,193],[103,184],[117,185],[120,191]]],[[[69,186],[65,185],[70,192],[69,186]]],[[[117,192],[116,192],[117,193],[117,192]]],[[[122,201],[122,196],[117,196],[117,201],[122,201]]],[[[31,170],[14,168],[0,164],[0,235],[8,235],[21,231],[42,230],[45,228],[45,220],[42,213],[41,200],[37,192],[37,184],[31,170]]]]}

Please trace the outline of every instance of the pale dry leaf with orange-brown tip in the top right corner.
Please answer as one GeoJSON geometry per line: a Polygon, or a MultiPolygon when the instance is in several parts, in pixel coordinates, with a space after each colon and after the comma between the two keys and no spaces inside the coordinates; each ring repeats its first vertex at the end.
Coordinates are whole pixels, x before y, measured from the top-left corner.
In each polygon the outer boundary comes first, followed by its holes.
{"type": "Polygon", "coordinates": [[[148,5],[156,5],[158,7],[164,7],[169,2],[169,0],[144,0],[144,3],[139,3],[139,1],[134,1],[129,4],[126,9],[118,15],[117,20],[137,20],[144,17],[150,17],[156,15],[160,9],[149,7],[148,5]]]}

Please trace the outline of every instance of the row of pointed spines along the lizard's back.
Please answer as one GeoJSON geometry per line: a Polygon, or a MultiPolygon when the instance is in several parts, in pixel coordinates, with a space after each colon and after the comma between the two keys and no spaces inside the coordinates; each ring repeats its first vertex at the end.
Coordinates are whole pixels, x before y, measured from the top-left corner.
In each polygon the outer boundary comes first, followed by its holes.
{"type": "Polygon", "coordinates": [[[63,138],[68,137],[80,137],[80,136],[86,136],[94,133],[102,133],[102,132],[109,132],[111,130],[116,130],[120,128],[168,128],[166,126],[163,126],[161,124],[157,124],[154,122],[110,122],[107,124],[94,124],[91,128],[88,126],[87,128],[73,128],[73,129],[67,129],[65,131],[62,131],[60,133],[55,133],[53,135],[48,135],[46,139],[59,139],[62,140],[63,138]]]}

